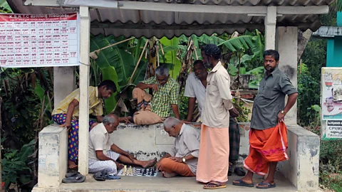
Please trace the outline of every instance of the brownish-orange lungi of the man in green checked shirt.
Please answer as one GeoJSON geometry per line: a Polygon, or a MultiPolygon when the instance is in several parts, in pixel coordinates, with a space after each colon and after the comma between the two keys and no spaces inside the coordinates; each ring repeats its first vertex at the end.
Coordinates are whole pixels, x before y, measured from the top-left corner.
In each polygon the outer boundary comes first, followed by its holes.
{"type": "Polygon", "coordinates": [[[135,112],[133,115],[133,121],[135,124],[156,124],[162,122],[162,118],[151,111],[151,106],[149,103],[152,99],[152,96],[150,94],[145,92],[145,90],[135,88],[132,95],[133,100],[137,100],[138,105],[141,105],[141,110],[135,112]]]}

